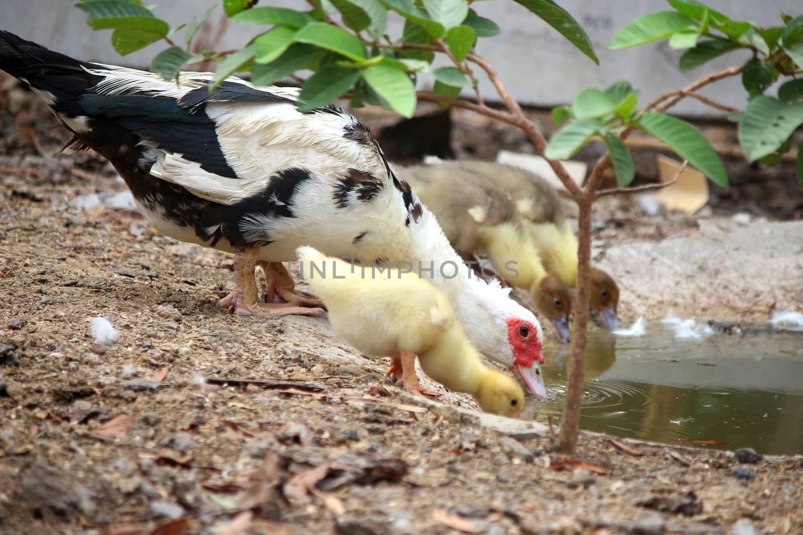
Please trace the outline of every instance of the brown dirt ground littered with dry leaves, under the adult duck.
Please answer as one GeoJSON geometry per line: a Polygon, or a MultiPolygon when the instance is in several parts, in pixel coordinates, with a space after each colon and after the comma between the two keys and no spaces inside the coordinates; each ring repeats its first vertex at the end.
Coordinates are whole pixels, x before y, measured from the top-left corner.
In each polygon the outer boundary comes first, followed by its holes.
{"type": "Polygon", "coordinates": [[[414,399],[326,318],[216,308],[225,254],[72,208],[123,190],[103,163],[2,143],[2,535],[803,532],[800,456],[584,433],[569,458],[545,422],[414,399]],[[94,342],[96,317],[120,339],[94,342]]]}

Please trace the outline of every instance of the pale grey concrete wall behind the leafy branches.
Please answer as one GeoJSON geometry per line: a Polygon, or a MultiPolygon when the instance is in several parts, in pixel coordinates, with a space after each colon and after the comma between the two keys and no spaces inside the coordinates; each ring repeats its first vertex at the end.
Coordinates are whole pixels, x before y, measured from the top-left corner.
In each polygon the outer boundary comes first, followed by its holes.
{"type": "MultiPolygon", "coordinates": [[[[160,2],[157,14],[177,25],[189,20],[191,14],[202,13],[211,3],[210,0],[160,2]]],[[[623,51],[607,49],[610,37],[626,22],[642,14],[666,10],[668,6],[664,0],[559,0],[558,3],[569,10],[588,32],[600,56],[599,67],[522,6],[509,0],[474,4],[479,14],[493,18],[503,28],[503,34],[498,37],[481,39],[478,50],[491,59],[512,95],[523,103],[540,106],[567,103],[581,87],[607,87],[620,79],[628,79],[635,87],[641,88],[642,102],[646,102],[664,91],[683,87],[707,72],[728,67],[744,58],[744,54],[734,53],[684,75],[677,68],[681,52],[672,50],[665,42],[623,51]]],[[[708,3],[734,18],[764,25],[780,23],[778,13],[781,11],[801,13],[800,0],[709,0],[708,3]]],[[[293,7],[306,4],[301,0],[262,0],[259,5],[293,7]]],[[[0,2],[0,28],[81,59],[131,67],[147,67],[150,59],[163,48],[163,45],[155,44],[145,51],[121,58],[110,45],[111,31],[89,30],[84,13],[67,0],[3,0],[0,2]]],[[[400,22],[395,20],[389,33],[396,36],[400,28],[400,22]]],[[[214,43],[216,49],[226,50],[242,47],[258,33],[258,26],[227,22],[222,10],[218,10],[202,37],[214,43]]],[[[431,84],[430,79],[422,77],[420,85],[426,87],[428,84],[431,84]]],[[[491,99],[494,94],[491,85],[483,81],[480,87],[491,99]]],[[[744,90],[738,79],[720,82],[703,92],[732,106],[744,105],[744,90]]],[[[675,109],[691,115],[720,115],[693,100],[675,109]]]]}

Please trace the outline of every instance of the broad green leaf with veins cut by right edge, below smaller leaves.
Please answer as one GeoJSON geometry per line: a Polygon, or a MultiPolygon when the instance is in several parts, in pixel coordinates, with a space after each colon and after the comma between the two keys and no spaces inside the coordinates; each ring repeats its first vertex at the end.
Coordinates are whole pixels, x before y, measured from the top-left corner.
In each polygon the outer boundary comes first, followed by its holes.
{"type": "Polygon", "coordinates": [[[739,143],[745,160],[755,161],[775,152],[801,123],[803,103],[756,96],[744,108],[739,123],[739,143]]]}

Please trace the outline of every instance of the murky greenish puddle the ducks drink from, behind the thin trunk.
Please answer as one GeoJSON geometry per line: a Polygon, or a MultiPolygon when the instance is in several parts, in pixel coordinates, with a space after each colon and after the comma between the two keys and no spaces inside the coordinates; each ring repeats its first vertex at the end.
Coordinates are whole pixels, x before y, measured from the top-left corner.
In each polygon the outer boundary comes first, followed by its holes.
{"type": "MultiPolygon", "coordinates": [[[[569,347],[544,347],[548,399],[538,419],[560,417],[569,347]]],[[[643,338],[589,332],[581,428],[666,444],[803,452],[803,335],[715,334],[677,340],[658,322],[643,338]],[[688,444],[688,443],[686,443],[688,444]],[[690,444],[694,445],[694,444],[690,444]]]]}

